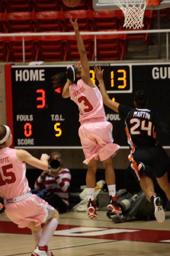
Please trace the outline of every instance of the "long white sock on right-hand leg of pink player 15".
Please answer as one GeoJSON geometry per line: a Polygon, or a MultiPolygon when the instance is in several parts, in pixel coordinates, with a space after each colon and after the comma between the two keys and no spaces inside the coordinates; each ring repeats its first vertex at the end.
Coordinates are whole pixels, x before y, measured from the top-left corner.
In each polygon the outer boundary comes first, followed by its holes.
{"type": "Polygon", "coordinates": [[[39,246],[48,245],[50,238],[53,236],[55,229],[58,226],[58,220],[52,218],[46,222],[42,229],[42,235],[40,238],[39,246]]]}

